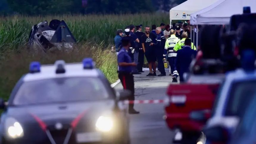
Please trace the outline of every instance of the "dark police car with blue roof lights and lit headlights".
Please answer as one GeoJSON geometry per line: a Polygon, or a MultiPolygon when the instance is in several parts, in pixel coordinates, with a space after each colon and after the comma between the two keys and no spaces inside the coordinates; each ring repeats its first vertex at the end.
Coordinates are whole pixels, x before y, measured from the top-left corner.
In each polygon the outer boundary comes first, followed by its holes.
{"type": "Polygon", "coordinates": [[[2,144],[129,143],[129,121],[122,100],[94,62],[30,64],[10,99],[1,101],[2,144]]]}

